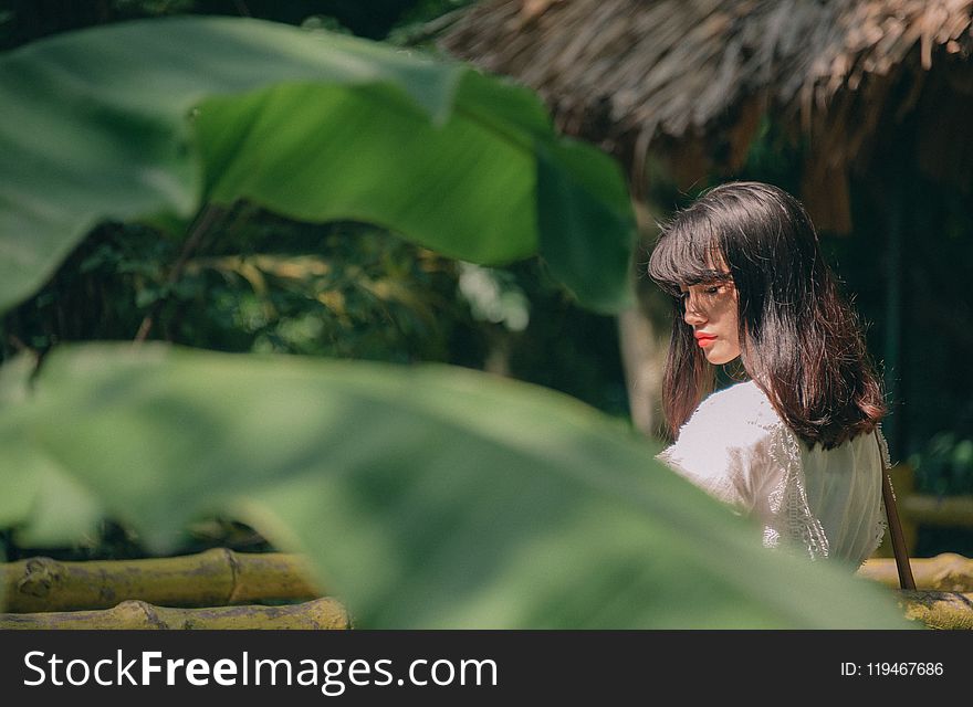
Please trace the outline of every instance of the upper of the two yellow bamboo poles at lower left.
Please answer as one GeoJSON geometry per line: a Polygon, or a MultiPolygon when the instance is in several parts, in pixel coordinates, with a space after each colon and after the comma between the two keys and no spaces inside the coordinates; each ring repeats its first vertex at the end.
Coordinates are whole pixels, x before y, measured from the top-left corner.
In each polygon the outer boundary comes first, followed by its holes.
{"type": "Polygon", "coordinates": [[[35,557],[0,564],[6,611],[108,609],[128,599],[165,606],[222,606],[321,597],[301,558],[226,548],[146,560],[59,562],[35,557]]]}

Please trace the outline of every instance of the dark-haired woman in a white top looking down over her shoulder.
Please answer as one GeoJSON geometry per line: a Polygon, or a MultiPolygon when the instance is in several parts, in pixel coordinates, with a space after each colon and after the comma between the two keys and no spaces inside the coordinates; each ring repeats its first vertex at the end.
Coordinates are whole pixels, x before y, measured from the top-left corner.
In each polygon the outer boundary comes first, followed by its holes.
{"type": "Polygon", "coordinates": [[[755,517],[764,545],[857,568],[885,531],[886,407],[801,203],[716,187],[663,228],[649,275],[677,308],[662,401],[676,443],[659,458],[755,517]],[[712,393],[736,358],[749,380],[712,393]]]}

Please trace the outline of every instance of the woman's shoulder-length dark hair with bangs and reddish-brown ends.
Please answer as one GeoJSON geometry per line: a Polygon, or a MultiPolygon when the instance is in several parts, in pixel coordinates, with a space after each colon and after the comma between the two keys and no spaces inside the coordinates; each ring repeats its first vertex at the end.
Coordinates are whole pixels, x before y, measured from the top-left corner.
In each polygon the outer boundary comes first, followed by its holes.
{"type": "Polygon", "coordinates": [[[787,192],[760,182],[705,192],[663,226],[649,276],[676,299],[662,390],[673,437],[715,386],[715,369],[682,318],[679,287],[726,279],[737,292],[743,367],[808,446],[836,447],[885,415],[858,317],[787,192]]]}

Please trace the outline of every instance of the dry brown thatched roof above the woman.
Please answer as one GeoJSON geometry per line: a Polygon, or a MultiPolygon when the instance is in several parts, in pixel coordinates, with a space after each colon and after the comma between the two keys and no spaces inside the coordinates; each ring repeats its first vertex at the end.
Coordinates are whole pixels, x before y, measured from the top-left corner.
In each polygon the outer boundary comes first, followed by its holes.
{"type": "Polygon", "coordinates": [[[441,44],[537,89],[636,186],[649,149],[686,181],[739,168],[768,110],[810,137],[825,226],[848,229],[848,169],[910,114],[920,167],[973,183],[973,0],[488,0],[441,44]]]}

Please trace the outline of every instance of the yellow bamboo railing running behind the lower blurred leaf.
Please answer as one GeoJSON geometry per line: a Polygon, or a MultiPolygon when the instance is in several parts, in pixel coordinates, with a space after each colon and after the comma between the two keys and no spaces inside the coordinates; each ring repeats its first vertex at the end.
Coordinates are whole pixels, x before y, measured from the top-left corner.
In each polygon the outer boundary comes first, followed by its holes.
{"type": "MultiPolygon", "coordinates": [[[[973,560],[912,559],[917,591],[900,591],[909,619],[973,630],[973,560]]],[[[896,563],[871,558],[859,576],[898,588],[896,563]]],[[[165,559],[0,564],[0,629],[349,629],[345,608],[321,598],[300,557],[219,548],[165,559]],[[299,601],[276,606],[264,601],[299,601]],[[242,605],[240,605],[242,604],[242,605]]]]}

